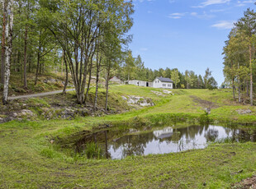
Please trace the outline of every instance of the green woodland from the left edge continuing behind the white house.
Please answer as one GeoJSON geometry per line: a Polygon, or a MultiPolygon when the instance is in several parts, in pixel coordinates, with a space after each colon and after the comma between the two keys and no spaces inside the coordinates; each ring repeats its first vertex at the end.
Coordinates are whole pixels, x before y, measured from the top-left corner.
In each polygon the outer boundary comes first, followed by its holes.
{"type": "Polygon", "coordinates": [[[176,88],[217,87],[209,68],[205,76],[177,68],[152,70],[145,67],[140,55],[134,58],[129,49],[134,13],[131,1],[12,0],[1,6],[3,104],[7,103],[10,75],[20,76],[26,90],[28,73],[32,73],[34,85],[40,85],[40,75],[65,73],[65,83],[73,81],[78,104],[86,102],[92,76],[97,78],[95,104],[100,78],[106,81],[108,94],[112,76],[122,81],[153,81],[164,76],[172,78],[176,88]]]}

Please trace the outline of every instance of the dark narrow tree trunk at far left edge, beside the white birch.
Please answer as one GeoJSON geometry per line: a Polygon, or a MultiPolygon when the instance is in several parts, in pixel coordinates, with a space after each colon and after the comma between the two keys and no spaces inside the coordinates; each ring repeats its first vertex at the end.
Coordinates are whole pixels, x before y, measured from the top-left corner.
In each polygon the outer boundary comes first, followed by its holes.
{"type": "Polygon", "coordinates": [[[6,30],[6,9],[7,9],[7,2],[3,1],[2,2],[2,6],[3,6],[3,15],[2,15],[2,59],[1,59],[1,83],[3,84],[4,82],[4,59],[5,59],[5,40],[6,40],[6,36],[5,36],[5,30],[6,30]]]}

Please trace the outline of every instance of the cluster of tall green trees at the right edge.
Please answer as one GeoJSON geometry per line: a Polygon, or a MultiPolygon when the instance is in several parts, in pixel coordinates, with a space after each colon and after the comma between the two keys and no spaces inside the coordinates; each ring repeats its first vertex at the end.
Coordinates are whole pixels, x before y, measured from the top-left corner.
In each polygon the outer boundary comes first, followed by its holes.
{"type": "Polygon", "coordinates": [[[247,9],[244,16],[235,22],[223,48],[224,76],[223,87],[233,89],[233,98],[239,103],[249,99],[254,105],[254,81],[256,48],[256,13],[247,9]]]}

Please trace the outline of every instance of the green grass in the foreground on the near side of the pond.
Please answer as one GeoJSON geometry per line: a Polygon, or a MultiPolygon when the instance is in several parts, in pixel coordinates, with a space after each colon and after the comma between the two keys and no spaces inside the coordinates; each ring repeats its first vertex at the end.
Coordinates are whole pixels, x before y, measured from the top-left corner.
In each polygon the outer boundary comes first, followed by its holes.
{"type": "Polygon", "coordinates": [[[254,143],[94,160],[56,150],[45,134],[53,128],[1,127],[1,188],[225,188],[255,173],[254,143]]]}

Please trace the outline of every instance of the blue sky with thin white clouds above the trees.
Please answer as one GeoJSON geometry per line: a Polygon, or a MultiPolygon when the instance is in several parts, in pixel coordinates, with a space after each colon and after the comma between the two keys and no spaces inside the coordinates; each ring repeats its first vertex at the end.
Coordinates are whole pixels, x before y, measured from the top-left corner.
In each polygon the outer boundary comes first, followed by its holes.
{"type": "Polygon", "coordinates": [[[207,67],[224,81],[222,48],[233,23],[256,7],[252,0],[134,0],[130,49],[145,67],[192,70],[207,67]]]}

